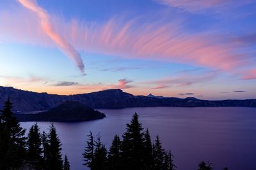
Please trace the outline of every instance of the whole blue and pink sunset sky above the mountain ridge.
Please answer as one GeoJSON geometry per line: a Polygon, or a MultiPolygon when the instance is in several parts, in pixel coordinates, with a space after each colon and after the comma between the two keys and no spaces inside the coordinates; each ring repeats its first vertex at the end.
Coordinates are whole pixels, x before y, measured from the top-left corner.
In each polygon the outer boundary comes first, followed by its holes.
{"type": "Polygon", "coordinates": [[[256,98],[256,1],[1,0],[0,86],[256,98]]]}

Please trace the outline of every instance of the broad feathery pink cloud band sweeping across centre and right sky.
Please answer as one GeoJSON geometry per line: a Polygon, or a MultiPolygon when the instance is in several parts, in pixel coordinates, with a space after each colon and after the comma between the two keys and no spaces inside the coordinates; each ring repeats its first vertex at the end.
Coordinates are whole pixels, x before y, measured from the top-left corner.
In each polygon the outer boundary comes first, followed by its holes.
{"type": "Polygon", "coordinates": [[[209,34],[186,34],[176,22],[138,25],[132,20],[121,25],[118,23],[122,22],[111,19],[101,25],[59,23],[67,28],[62,34],[73,30],[72,39],[77,39],[76,46],[86,52],[180,62],[223,71],[248,64],[246,55],[235,52],[237,45],[220,43],[219,38],[209,34]]]}

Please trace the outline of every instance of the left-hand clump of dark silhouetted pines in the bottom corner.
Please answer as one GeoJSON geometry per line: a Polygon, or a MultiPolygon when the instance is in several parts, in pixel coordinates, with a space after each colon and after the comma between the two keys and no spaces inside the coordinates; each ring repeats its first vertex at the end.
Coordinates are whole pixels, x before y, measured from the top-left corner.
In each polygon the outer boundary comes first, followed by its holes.
{"type": "Polygon", "coordinates": [[[0,115],[0,169],[70,169],[67,157],[63,165],[61,142],[51,124],[49,133],[40,134],[37,124],[31,126],[28,137],[12,112],[10,99],[0,115]]]}

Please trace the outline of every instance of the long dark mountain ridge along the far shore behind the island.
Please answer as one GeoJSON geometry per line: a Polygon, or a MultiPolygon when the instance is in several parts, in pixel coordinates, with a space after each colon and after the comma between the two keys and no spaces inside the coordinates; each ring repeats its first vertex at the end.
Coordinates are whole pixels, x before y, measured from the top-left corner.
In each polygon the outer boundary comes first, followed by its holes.
{"type": "Polygon", "coordinates": [[[108,89],[87,94],[58,95],[45,92],[31,92],[14,89],[13,87],[0,86],[0,108],[10,96],[13,110],[26,112],[37,110],[49,110],[65,101],[79,101],[90,108],[130,108],[130,107],[216,107],[239,106],[256,107],[256,99],[208,101],[194,98],[180,99],[176,97],[164,97],[162,99],[147,96],[134,96],[120,89],[108,89]]]}

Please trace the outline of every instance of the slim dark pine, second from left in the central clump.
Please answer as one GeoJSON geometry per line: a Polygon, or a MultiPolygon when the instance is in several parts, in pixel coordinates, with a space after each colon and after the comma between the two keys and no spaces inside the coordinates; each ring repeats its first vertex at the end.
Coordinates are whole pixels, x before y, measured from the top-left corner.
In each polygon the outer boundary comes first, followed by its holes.
{"type": "Polygon", "coordinates": [[[102,145],[100,141],[100,134],[97,136],[97,141],[96,141],[96,147],[95,147],[95,152],[94,152],[94,161],[92,163],[92,170],[106,170],[108,169],[107,167],[107,150],[104,145],[102,145]]]}

